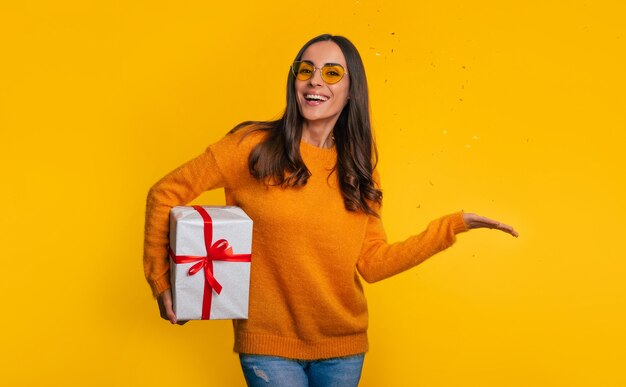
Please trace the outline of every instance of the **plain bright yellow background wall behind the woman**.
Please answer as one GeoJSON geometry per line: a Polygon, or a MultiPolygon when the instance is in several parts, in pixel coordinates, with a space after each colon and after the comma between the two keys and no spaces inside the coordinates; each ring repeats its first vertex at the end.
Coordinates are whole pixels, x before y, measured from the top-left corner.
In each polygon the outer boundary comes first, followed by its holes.
{"type": "Polygon", "coordinates": [[[626,385],[622,4],[3,1],[2,384],[244,384],[229,322],[158,318],[145,196],[279,115],[330,32],[368,71],[390,240],[459,209],[521,233],[366,286],[362,386],[626,385]]]}

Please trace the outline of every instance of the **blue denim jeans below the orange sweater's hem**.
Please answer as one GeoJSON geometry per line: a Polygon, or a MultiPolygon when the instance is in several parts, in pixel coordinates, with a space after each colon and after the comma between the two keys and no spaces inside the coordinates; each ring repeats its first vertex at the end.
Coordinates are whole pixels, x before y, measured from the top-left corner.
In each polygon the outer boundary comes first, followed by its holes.
{"type": "Polygon", "coordinates": [[[356,387],[365,354],[323,360],[294,360],[239,354],[249,387],[356,387]]]}

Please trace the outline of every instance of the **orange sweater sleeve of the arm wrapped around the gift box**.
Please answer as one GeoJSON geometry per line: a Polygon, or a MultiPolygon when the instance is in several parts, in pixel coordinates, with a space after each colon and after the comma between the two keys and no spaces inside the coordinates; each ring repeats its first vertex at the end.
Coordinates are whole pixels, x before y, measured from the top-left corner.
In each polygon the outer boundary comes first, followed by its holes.
{"type": "Polygon", "coordinates": [[[225,136],[150,188],[146,203],[143,266],[155,296],[170,287],[167,251],[170,210],[186,205],[204,191],[232,187],[241,180],[242,174],[248,174],[247,157],[254,141],[243,141],[243,134],[242,130],[225,136]]]}

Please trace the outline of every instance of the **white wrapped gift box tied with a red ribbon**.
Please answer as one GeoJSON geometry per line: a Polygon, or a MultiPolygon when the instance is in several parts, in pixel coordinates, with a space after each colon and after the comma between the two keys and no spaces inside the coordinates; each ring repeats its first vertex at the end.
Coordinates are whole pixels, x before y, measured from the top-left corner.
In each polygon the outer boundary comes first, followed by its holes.
{"type": "Polygon", "coordinates": [[[170,280],[177,319],[248,318],[251,249],[252,220],[241,208],[172,208],[170,280]]]}

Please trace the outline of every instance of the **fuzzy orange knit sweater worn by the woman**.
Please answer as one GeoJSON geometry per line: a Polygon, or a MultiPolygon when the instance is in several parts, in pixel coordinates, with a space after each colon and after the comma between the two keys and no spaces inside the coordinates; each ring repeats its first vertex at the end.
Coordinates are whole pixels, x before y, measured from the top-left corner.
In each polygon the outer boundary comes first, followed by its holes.
{"type": "Polygon", "coordinates": [[[312,173],[299,188],[266,186],[248,172],[263,137],[225,136],[157,182],[148,195],[144,268],[154,294],[169,288],[168,214],[205,190],[223,187],[226,202],[254,221],[248,320],[233,320],[235,351],[321,359],[367,351],[367,305],[360,276],[379,281],[449,247],[467,230],[462,213],[389,244],[380,218],[347,211],[334,149],[301,143],[312,173]],[[358,272],[358,274],[357,274],[358,272]]]}

